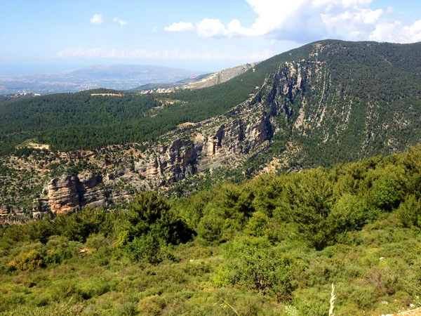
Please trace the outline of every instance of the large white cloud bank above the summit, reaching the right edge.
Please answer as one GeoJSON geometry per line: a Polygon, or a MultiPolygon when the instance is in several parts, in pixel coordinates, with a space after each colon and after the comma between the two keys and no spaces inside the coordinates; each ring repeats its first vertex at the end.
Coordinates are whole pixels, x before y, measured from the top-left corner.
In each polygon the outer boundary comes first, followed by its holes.
{"type": "MultiPolygon", "coordinates": [[[[340,39],[420,41],[419,22],[403,25],[388,20],[390,6],[373,9],[372,0],[246,0],[257,18],[251,25],[232,20],[225,26],[218,19],[205,18],[196,25],[199,37],[269,37],[312,41],[326,37],[340,39]]],[[[174,23],[176,25],[177,23],[174,23]]],[[[192,23],[190,24],[193,29],[192,23]]],[[[173,25],[171,25],[173,26],[173,25]]]]}

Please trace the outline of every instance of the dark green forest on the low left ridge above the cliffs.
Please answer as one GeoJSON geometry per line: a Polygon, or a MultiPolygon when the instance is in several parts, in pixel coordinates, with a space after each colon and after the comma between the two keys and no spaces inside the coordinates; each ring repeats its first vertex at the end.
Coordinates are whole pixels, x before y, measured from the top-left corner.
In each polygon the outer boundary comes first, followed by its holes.
{"type": "Polygon", "coordinates": [[[122,94],[97,89],[0,103],[0,152],[14,152],[17,145],[28,139],[61,151],[140,143],[186,121],[202,121],[222,114],[248,96],[241,93],[242,88],[238,93],[229,88],[214,89],[199,94],[186,92],[180,100],[173,100],[172,94],[93,96],[122,94]]]}

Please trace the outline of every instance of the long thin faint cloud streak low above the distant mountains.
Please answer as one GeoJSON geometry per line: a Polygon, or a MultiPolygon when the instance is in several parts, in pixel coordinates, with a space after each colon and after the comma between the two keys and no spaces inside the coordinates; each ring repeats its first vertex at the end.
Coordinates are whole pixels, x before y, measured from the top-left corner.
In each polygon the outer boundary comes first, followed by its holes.
{"type": "Polygon", "coordinates": [[[144,58],[175,60],[265,60],[274,55],[270,50],[255,51],[250,54],[197,53],[191,51],[151,51],[148,49],[108,49],[108,48],[66,48],[57,53],[59,58],[144,58]]]}

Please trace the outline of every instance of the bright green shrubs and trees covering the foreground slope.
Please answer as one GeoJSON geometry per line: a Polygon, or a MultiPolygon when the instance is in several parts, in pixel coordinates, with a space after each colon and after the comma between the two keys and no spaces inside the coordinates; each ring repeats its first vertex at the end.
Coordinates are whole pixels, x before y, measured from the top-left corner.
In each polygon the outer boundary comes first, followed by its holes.
{"type": "Polygon", "coordinates": [[[421,146],[3,225],[0,315],[381,315],[421,305],[421,146]]]}

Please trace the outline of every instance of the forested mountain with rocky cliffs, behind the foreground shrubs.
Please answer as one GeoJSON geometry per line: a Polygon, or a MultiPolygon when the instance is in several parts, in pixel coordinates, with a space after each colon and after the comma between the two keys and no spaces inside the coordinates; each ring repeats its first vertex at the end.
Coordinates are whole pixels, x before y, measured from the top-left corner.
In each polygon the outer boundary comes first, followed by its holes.
{"type": "Polygon", "coordinates": [[[420,48],[318,41],[193,91],[1,103],[0,204],[60,213],[401,152],[421,138],[420,48]]]}

